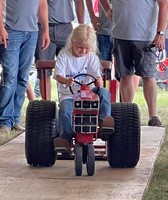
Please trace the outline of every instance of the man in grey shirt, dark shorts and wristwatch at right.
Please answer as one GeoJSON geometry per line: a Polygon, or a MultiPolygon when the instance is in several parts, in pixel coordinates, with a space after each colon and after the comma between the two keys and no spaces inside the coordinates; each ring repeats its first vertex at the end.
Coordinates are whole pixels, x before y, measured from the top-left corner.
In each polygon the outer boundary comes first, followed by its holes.
{"type": "Polygon", "coordinates": [[[144,48],[151,43],[159,50],[165,48],[168,1],[111,1],[112,10],[107,0],[100,0],[107,16],[113,19],[115,71],[120,79],[122,101],[133,101],[133,74],[141,76],[148,106],[148,125],[161,126],[156,112],[156,58],[144,48]]]}

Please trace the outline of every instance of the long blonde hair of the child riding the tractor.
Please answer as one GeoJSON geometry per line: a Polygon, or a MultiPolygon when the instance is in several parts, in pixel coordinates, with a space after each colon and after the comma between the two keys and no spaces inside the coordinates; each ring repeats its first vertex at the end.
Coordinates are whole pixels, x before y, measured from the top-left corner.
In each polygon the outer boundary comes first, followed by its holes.
{"type": "Polygon", "coordinates": [[[87,45],[92,52],[97,53],[97,36],[95,30],[87,24],[80,24],[70,34],[65,48],[72,50],[73,42],[81,42],[87,45]]]}

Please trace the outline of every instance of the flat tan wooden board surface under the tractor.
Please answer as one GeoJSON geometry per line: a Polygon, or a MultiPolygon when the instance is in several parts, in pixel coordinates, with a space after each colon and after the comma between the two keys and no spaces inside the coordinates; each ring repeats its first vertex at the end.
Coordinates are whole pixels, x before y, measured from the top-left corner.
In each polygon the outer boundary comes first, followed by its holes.
{"type": "Polygon", "coordinates": [[[164,128],[142,127],[141,156],[130,169],[96,161],[94,176],[75,176],[73,160],[52,167],[27,164],[24,134],[0,146],[0,200],[140,200],[148,186],[164,138],[164,128]],[[151,137],[152,134],[152,137],[151,137]]]}

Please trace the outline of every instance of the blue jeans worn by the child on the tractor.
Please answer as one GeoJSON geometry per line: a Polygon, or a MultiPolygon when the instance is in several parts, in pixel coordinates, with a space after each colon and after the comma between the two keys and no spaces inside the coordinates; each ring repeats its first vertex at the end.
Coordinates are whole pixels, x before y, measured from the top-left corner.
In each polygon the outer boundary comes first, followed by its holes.
{"type": "MultiPolygon", "coordinates": [[[[110,93],[106,88],[93,89],[100,99],[99,121],[102,121],[106,116],[111,116],[111,101],[110,93]]],[[[65,99],[60,103],[59,109],[59,135],[62,139],[66,139],[69,143],[72,142],[72,112],[73,99],[65,99]]]]}

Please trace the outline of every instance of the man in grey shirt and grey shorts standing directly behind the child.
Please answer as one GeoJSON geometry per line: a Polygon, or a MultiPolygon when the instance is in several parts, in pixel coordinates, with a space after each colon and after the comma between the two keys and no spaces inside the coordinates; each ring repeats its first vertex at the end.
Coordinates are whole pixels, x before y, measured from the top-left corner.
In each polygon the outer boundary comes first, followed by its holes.
{"type": "MultiPolygon", "coordinates": [[[[46,50],[41,49],[42,28],[39,24],[38,43],[35,53],[35,60],[54,60],[62,47],[64,47],[67,37],[72,32],[72,21],[74,20],[73,3],[75,3],[76,15],[79,23],[84,23],[84,3],[83,0],[48,0],[49,9],[49,34],[50,45],[46,50]]],[[[51,99],[51,70],[46,70],[46,98],[51,99]]],[[[45,99],[44,77],[42,70],[38,70],[40,79],[40,93],[45,99]]]]}

